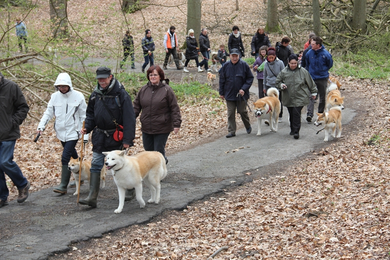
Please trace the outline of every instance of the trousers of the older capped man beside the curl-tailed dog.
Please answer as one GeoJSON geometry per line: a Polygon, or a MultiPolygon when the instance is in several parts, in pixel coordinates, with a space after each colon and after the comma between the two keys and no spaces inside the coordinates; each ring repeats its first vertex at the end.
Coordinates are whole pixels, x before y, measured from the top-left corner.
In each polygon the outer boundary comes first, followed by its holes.
{"type": "Polygon", "coordinates": [[[228,107],[228,131],[229,134],[235,135],[235,130],[237,129],[236,123],[235,123],[235,111],[237,110],[237,113],[240,114],[241,120],[245,125],[245,128],[248,129],[251,127],[251,123],[249,121],[248,117],[248,111],[246,109],[246,103],[244,100],[240,101],[229,101],[226,100],[226,105],[228,107]]]}

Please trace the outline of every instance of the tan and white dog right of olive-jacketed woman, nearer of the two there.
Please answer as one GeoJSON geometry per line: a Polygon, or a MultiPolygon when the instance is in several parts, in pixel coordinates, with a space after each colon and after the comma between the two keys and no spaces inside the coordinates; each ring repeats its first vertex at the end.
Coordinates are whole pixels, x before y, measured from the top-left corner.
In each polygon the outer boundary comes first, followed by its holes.
{"type": "Polygon", "coordinates": [[[336,137],[336,128],[338,130],[337,138],[341,136],[341,108],[338,106],[332,107],[329,112],[317,114],[317,120],[314,122],[316,126],[323,125],[325,130],[325,139],[328,141],[329,130],[331,130],[331,136],[336,137]]]}

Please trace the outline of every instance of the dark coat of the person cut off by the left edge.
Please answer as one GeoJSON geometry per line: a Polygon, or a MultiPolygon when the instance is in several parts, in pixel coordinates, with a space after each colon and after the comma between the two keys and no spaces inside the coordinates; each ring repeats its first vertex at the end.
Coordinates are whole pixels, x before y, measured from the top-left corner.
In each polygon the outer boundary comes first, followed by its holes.
{"type": "Polygon", "coordinates": [[[29,110],[17,83],[4,79],[0,73],[0,142],[20,138],[19,125],[29,110]]]}

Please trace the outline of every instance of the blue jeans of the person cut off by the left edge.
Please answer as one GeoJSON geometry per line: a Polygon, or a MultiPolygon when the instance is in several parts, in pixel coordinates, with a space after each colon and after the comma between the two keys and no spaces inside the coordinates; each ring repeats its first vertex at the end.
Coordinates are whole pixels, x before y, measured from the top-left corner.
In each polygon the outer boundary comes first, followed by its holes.
{"type": "Polygon", "coordinates": [[[0,200],[7,200],[9,190],[5,182],[5,175],[14,182],[18,190],[27,185],[27,179],[24,178],[21,170],[14,159],[14,149],[16,140],[0,142],[0,200]]]}

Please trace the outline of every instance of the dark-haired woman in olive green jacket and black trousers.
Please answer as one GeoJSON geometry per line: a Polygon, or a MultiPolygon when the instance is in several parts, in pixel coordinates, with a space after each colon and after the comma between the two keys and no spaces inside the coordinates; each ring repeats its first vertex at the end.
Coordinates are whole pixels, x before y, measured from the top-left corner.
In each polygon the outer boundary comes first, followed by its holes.
{"type": "Polygon", "coordinates": [[[309,72],[298,64],[295,54],[289,56],[289,64],[277,75],[276,87],[281,91],[283,105],[290,114],[290,135],[298,139],[302,108],[309,104],[310,95],[315,98],[317,87],[309,72]]]}

